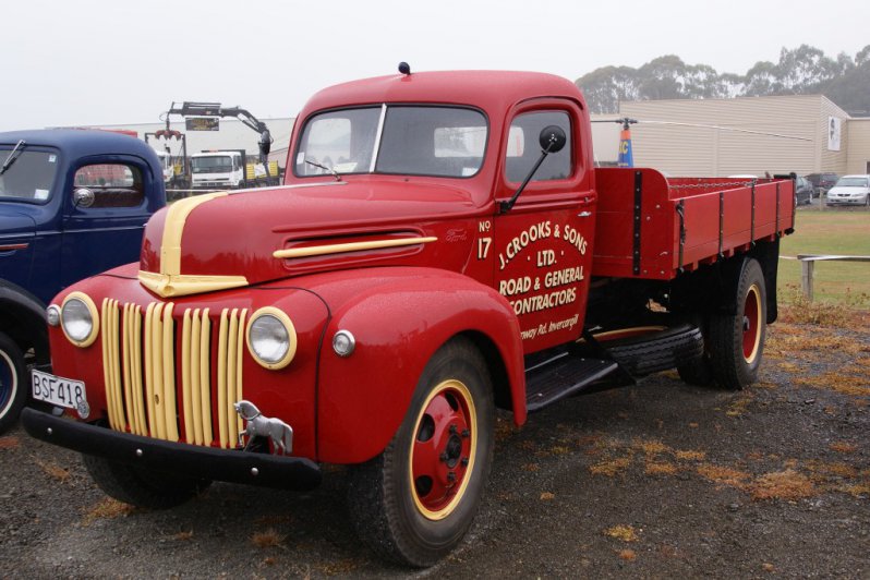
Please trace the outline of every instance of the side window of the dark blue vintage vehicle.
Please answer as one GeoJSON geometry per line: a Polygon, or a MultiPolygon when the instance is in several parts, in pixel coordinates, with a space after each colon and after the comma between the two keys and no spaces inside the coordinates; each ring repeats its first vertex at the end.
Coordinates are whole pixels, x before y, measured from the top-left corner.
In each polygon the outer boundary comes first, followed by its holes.
{"type": "Polygon", "coordinates": [[[142,171],[124,164],[84,166],[75,172],[73,196],[77,208],[138,207],[145,200],[142,171]]]}

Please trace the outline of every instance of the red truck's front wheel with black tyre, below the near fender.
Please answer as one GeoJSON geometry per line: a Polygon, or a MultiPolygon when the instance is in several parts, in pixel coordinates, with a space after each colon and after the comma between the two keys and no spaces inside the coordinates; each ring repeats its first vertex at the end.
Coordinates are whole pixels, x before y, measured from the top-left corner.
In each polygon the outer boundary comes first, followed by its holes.
{"type": "Polygon", "coordinates": [[[415,567],[447,555],[478,511],[494,422],[483,357],[471,341],[451,340],[427,363],[387,448],[350,472],[348,499],[360,537],[380,556],[415,567]]]}

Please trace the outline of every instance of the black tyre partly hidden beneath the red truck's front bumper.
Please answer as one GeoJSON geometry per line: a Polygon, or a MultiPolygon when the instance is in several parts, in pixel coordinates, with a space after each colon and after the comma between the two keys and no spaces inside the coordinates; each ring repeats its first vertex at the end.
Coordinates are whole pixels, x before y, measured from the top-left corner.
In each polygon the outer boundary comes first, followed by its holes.
{"type": "Polygon", "coordinates": [[[147,509],[180,506],[212,483],[173,473],[145,470],[104,457],[82,455],[88,473],[106,495],[147,509]]]}

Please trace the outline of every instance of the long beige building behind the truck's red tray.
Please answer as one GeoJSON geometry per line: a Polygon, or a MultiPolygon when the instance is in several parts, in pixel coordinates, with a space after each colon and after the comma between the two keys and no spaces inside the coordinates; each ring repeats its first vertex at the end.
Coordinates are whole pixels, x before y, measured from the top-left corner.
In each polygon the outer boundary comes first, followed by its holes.
{"type": "MultiPolygon", "coordinates": [[[[670,176],[870,172],[870,119],[821,95],[623,102],[619,116],[639,121],[635,165],[670,176]]],[[[602,161],[615,158],[607,148],[618,125],[607,125],[594,137],[602,161]]]]}

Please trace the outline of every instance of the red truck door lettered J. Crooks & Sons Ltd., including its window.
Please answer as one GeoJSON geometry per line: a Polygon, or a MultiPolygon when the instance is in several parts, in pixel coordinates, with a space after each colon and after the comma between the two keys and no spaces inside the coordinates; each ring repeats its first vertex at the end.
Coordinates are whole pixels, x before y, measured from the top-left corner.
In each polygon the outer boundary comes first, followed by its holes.
{"type": "Polygon", "coordinates": [[[496,289],[520,321],[527,353],[579,337],[594,239],[594,192],[580,136],[588,125],[571,102],[548,99],[515,112],[507,130],[496,200],[509,198],[541,156],[539,135],[560,126],[568,141],[551,154],[510,210],[495,218],[496,289]]]}

